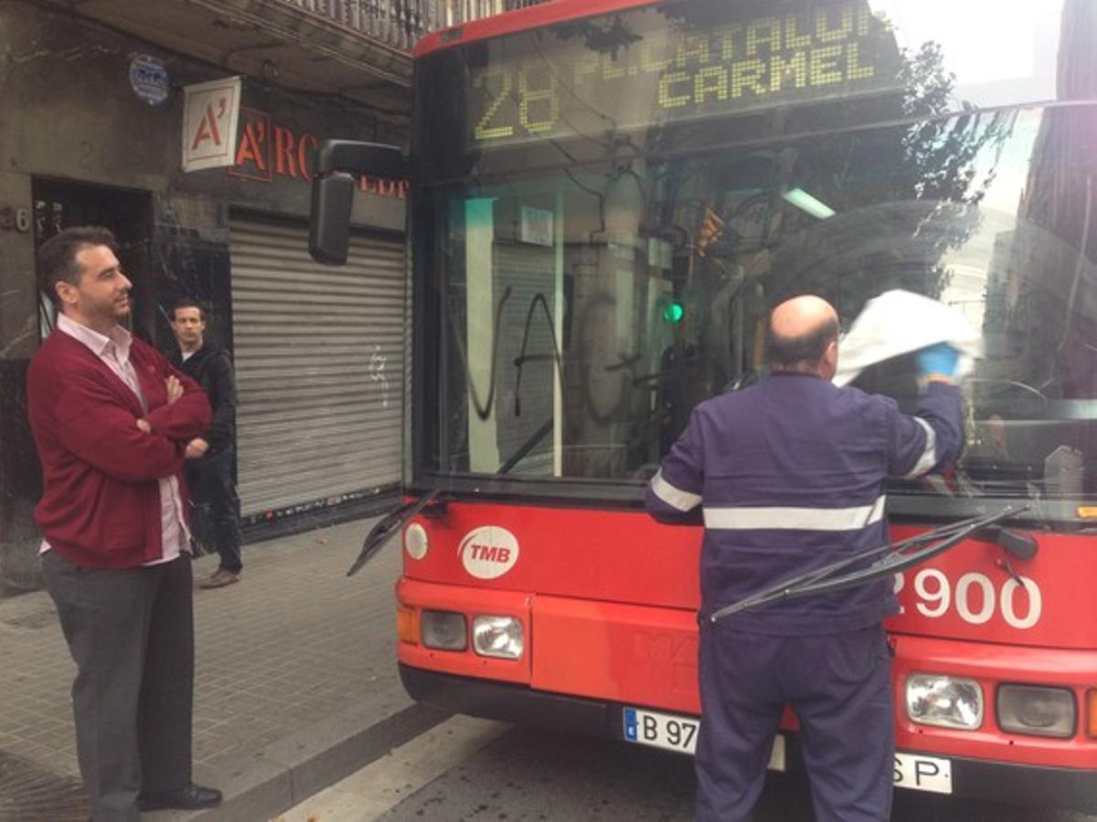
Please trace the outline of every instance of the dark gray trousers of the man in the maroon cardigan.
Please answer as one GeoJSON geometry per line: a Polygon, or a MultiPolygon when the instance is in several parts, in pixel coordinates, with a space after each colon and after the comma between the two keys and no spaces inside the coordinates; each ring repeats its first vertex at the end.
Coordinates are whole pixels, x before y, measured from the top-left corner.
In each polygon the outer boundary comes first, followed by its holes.
{"type": "Polygon", "coordinates": [[[42,557],[69,652],[77,755],[95,822],[138,820],[137,794],[191,781],[191,560],[98,570],[42,557]]]}

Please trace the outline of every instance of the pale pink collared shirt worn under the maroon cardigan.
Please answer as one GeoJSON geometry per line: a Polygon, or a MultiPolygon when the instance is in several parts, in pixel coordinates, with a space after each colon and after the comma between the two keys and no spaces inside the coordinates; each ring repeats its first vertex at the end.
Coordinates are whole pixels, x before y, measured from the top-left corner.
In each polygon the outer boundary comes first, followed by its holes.
{"type": "MultiPolygon", "coordinates": [[[[142,408],[148,411],[145,393],[140,390],[140,383],[137,381],[137,373],[129,362],[129,342],[133,335],[128,331],[115,326],[111,335],[105,336],[69,319],[64,313],[57,315],[57,331],[63,331],[87,345],[118,379],[129,387],[129,390],[137,395],[142,408]]],[[[137,424],[136,420],[134,424],[137,424]]],[[[160,537],[163,541],[163,556],[146,562],[146,566],[170,562],[183,551],[190,553],[191,534],[183,517],[183,498],[179,492],[179,480],[172,476],[162,477],[157,481],[160,483],[160,537]]],[[[45,553],[49,548],[49,543],[43,539],[39,552],[45,553]]]]}

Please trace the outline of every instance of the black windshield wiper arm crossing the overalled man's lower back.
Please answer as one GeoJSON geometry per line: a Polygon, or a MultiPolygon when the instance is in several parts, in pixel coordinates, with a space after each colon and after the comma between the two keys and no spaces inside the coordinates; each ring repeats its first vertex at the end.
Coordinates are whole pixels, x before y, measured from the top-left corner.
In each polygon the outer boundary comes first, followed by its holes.
{"type": "MultiPolygon", "coordinates": [[[[977,538],[980,532],[985,532],[985,529],[995,523],[1026,510],[1028,510],[1028,505],[1007,507],[997,514],[961,520],[960,522],[951,523],[950,525],[935,528],[934,530],[908,537],[897,543],[870,548],[852,557],[846,557],[823,568],[784,580],[731,605],[725,605],[713,612],[710,619],[715,623],[732,614],[742,614],[745,610],[768,605],[772,602],[798,600],[802,596],[833,593],[855,585],[863,585],[881,576],[896,573],[919,562],[925,562],[959,545],[968,537],[977,538]],[[867,568],[859,568],[853,571],[845,570],[857,562],[881,555],[883,556],[880,559],[867,568]]],[[[1007,550],[1009,549],[1005,545],[1003,547],[1006,547],[1007,550]]]]}

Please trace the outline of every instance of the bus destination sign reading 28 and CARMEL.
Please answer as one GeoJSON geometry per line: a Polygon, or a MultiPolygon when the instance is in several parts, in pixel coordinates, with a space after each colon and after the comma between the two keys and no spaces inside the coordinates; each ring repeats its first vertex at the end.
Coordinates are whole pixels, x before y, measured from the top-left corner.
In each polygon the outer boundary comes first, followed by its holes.
{"type": "MultiPolygon", "coordinates": [[[[789,3],[784,7],[789,8],[789,3]]],[[[689,3],[491,44],[471,72],[473,145],[687,122],[898,88],[902,60],[867,0],[795,13],[691,18],[689,3]]],[[[712,8],[712,4],[709,4],[712,8]]]]}

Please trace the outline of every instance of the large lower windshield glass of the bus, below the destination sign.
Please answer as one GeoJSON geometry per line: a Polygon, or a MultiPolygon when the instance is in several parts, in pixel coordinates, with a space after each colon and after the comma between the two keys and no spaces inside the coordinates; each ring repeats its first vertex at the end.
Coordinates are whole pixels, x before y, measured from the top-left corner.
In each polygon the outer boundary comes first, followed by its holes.
{"type": "MultiPolygon", "coordinates": [[[[1092,192],[1042,157],[1088,122],[973,113],[437,192],[437,468],[640,483],[698,402],[764,376],[773,304],[817,293],[848,323],[905,288],[962,310],[987,355],[961,468],[897,490],[1076,506],[1093,490],[1092,192]]],[[[914,374],[898,357],[859,385],[907,406],[914,374]]]]}

